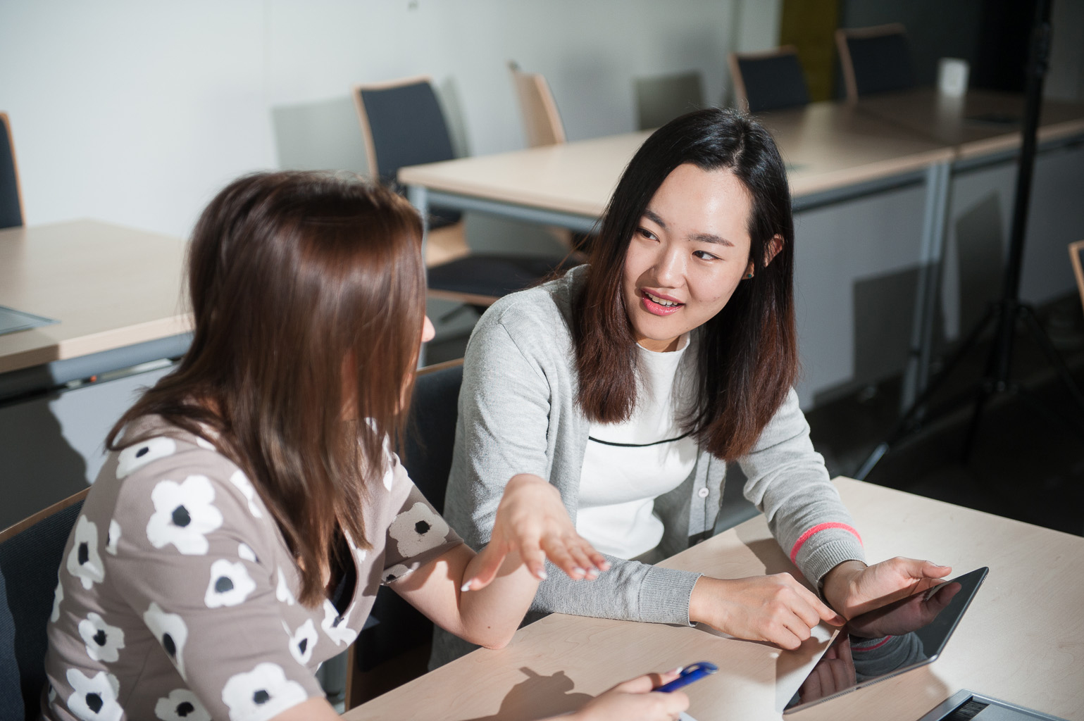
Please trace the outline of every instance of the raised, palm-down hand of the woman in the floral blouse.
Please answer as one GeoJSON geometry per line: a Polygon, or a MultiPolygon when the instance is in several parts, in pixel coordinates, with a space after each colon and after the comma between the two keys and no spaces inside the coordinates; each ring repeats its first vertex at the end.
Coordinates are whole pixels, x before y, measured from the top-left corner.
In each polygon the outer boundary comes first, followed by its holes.
{"type": "Polygon", "coordinates": [[[513,476],[505,486],[489,544],[472,563],[463,590],[488,585],[514,553],[539,580],[545,578],[547,557],[573,579],[591,580],[609,568],[606,557],[576,532],[557,489],[530,474],[513,476]]]}

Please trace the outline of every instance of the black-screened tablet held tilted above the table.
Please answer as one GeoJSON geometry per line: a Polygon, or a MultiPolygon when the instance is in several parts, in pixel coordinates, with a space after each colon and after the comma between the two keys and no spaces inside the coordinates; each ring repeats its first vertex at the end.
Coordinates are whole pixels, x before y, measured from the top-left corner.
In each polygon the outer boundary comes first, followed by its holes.
{"type": "Polygon", "coordinates": [[[823,704],[935,660],[989,570],[978,568],[852,618],[783,712],[823,704]]]}

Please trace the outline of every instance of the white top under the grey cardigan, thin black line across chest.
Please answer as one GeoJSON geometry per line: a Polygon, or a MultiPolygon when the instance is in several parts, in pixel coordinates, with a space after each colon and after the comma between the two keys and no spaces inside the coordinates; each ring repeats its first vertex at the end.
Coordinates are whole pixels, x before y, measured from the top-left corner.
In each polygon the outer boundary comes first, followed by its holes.
{"type": "Polygon", "coordinates": [[[693,473],[696,441],[678,419],[687,408],[695,356],[688,334],[671,352],[642,346],[636,378],[636,408],[624,423],[592,423],[580,472],[576,530],[603,553],[635,558],[662,539],[655,499],[673,490],[693,473]],[[662,442],[660,442],[662,441],[662,442]],[[611,445],[620,443],[620,445],[611,445]]]}

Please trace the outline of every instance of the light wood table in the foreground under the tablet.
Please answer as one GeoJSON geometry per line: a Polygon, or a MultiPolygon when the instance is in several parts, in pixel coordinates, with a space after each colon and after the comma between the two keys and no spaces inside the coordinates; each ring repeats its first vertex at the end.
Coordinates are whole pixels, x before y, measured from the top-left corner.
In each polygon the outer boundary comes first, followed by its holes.
{"type": "MultiPolygon", "coordinates": [[[[941,658],[788,719],[913,721],[960,688],[1084,719],[1084,539],[847,478],[836,480],[870,561],[908,555],[990,576],[941,658]]],[[[722,577],[792,570],[763,516],[664,565],[722,577]]],[[[815,645],[815,644],[813,644],[815,645]]],[[[702,628],[555,614],[508,647],[478,651],[346,713],[346,719],[534,719],[580,706],[649,670],[710,660],[688,686],[697,721],[779,719],[788,671],[812,647],[783,652],[702,628]]]]}

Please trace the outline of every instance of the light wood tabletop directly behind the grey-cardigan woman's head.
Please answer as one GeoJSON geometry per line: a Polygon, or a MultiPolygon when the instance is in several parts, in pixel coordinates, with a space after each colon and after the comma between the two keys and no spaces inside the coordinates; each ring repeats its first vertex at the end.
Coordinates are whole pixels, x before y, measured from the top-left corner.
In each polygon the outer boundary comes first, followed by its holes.
{"type": "MultiPolygon", "coordinates": [[[[788,164],[795,196],[835,190],[952,158],[944,143],[846,103],[764,114],[788,164]]],[[[649,131],[409,166],[399,181],[501,203],[599,217],[649,131]]]]}

